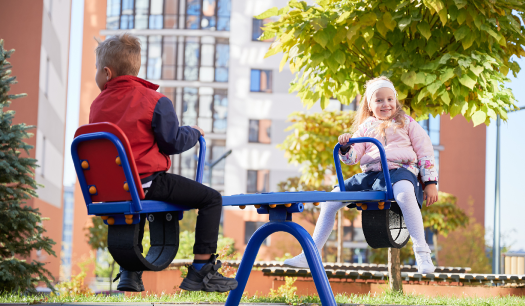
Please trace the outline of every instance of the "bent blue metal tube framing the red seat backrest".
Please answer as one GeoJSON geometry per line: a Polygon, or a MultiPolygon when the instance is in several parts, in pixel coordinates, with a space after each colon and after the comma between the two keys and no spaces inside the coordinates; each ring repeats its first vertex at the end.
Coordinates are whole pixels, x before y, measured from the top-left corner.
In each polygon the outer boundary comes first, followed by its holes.
{"type": "MultiPolygon", "coordinates": [[[[124,170],[124,175],[126,177],[126,181],[128,182],[129,192],[131,194],[131,200],[133,202],[133,206],[131,206],[131,208],[133,208],[134,212],[140,212],[142,210],[142,205],[140,203],[139,192],[137,191],[135,180],[133,179],[133,174],[131,173],[131,168],[130,168],[130,164],[128,161],[128,155],[126,154],[126,151],[124,150],[124,146],[122,145],[120,140],[117,138],[117,136],[111,133],[108,133],[108,132],[96,132],[96,133],[79,135],[71,143],[71,157],[73,159],[73,164],[75,165],[75,170],[78,176],[78,182],[80,184],[80,188],[82,189],[82,195],[84,196],[84,200],[86,201],[86,206],[91,204],[92,201],[91,201],[91,196],[89,195],[88,185],[86,183],[86,177],[84,176],[82,166],[80,165],[80,159],[78,157],[77,149],[78,149],[79,143],[83,141],[90,141],[90,140],[97,140],[97,139],[107,139],[111,141],[113,145],[117,148],[117,152],[119,153],[120,161],[122,163],[122,170],[124,170]]],[[[134,213],[134,212],[131,212],[131,213],[134,213]]]]}

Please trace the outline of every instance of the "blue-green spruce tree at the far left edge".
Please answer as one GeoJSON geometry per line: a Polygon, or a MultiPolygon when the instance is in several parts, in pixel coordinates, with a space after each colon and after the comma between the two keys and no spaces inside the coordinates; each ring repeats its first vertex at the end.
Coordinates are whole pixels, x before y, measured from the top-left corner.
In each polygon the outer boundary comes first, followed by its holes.
{"type": "Polygon", "coordinates": [[[38,208],[22,206],[24,200],[37,197],[37,184],[33,178],[36,160],[24,157],[29,155],[33,146],[23,140],[33,134],[28,130],[33,125],[13,124],[15,111],[4,110],[11,100],[25,97],[26,94],[9,94],[10,86],[17,81],[10,76],[12,66],[7,59],[14,50],[4,49],[4,40],[0,40],[0,292],[31,291],[36,292],[38,282],[46,283],[54,290],[51,273],[44,263],[24,258],[31,251],[40,250],[55,255],[51,247],[55,241],[44,236],[46,229],[38,208]]]}

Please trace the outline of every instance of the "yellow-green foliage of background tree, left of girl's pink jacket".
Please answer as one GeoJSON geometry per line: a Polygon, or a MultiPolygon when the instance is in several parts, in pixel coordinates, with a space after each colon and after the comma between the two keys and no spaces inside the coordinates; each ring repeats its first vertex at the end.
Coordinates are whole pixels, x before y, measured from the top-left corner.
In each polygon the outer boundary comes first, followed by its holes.
{"type": "MultiPolygon", "coordinates": [[[[354,119],[351,111],[324,111],[322,113],[294,112],[290,114],[293,131],[278,147],[285,151],[289,163],[302,166],[299,183],[309,188],[320,189],[326,184],[327,176],[335,175],[333,147],[339,135],[349,132],[354,119]]],[[[339,160],[338,160],[339,161],[339,160]]],[[[341,163],[343,177],[360,173],[359,165],[348,166],[341,163]]],[[[332,190],[329,187],[330,190],[332,190]]]]}

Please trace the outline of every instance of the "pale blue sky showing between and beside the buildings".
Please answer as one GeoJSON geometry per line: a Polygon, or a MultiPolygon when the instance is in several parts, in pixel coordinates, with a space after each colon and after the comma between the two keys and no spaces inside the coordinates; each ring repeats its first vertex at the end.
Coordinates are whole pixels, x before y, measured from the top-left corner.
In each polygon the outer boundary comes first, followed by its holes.
{"type": "MultiPolygon", "coordinates": [[[[66,114],[66,150],[64,161],[64,185],[76,182],[75,167],[71,160],[71,142],[78,127],[80,101],[80,70],[82,57],[82,25],[84,0],[72,1],[71,31],[69,48],[69,73],[66,114]]],[[[518,106],[525,106],[525,60],[515,58],[522,67],[517,78],[509,73],[512,89],[518,106]]],[[[525,227],[519,226],[525,216],[525,200],[520,198],[524,188],[522,172],[525,173],[525,110],[509,114],[509,120],[500,125],[500,177],[501,177],[501,234],[502,246],[510,246],[512,251],[525,251],[525,227]]],[[[487,127],[487,151],[485,172],[485,228],[487,239],[492,241],[494,224],[494,193],[496,174],[496,122],[487,127]]],[[[468,156],[464,156],[468,162],[468,156]]],[[[472,165],[473,167],[476,165],[472,165]]],[[[468,174],[466,179],[468,179],[468,174]]]]}

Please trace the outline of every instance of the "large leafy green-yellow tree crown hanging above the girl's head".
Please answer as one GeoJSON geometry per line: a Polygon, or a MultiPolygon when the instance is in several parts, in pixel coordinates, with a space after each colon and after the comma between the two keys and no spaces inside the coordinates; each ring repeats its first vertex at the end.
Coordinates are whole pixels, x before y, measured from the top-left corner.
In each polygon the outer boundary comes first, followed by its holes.
{"type": "MultiPolygon", "coordinates": [[[[278,15],[259,39],[276,37],[266,57],[283,52],[304,105],[348,104],[370,78],[385,75],[417,119],[464,115],[474,125],[515,107],[504,87],[512,56],[525,55],[519,0],[291,0],[256,16],[278,15]]],[[[417,120],[416,119],[416,120],[417,120]]]]}

